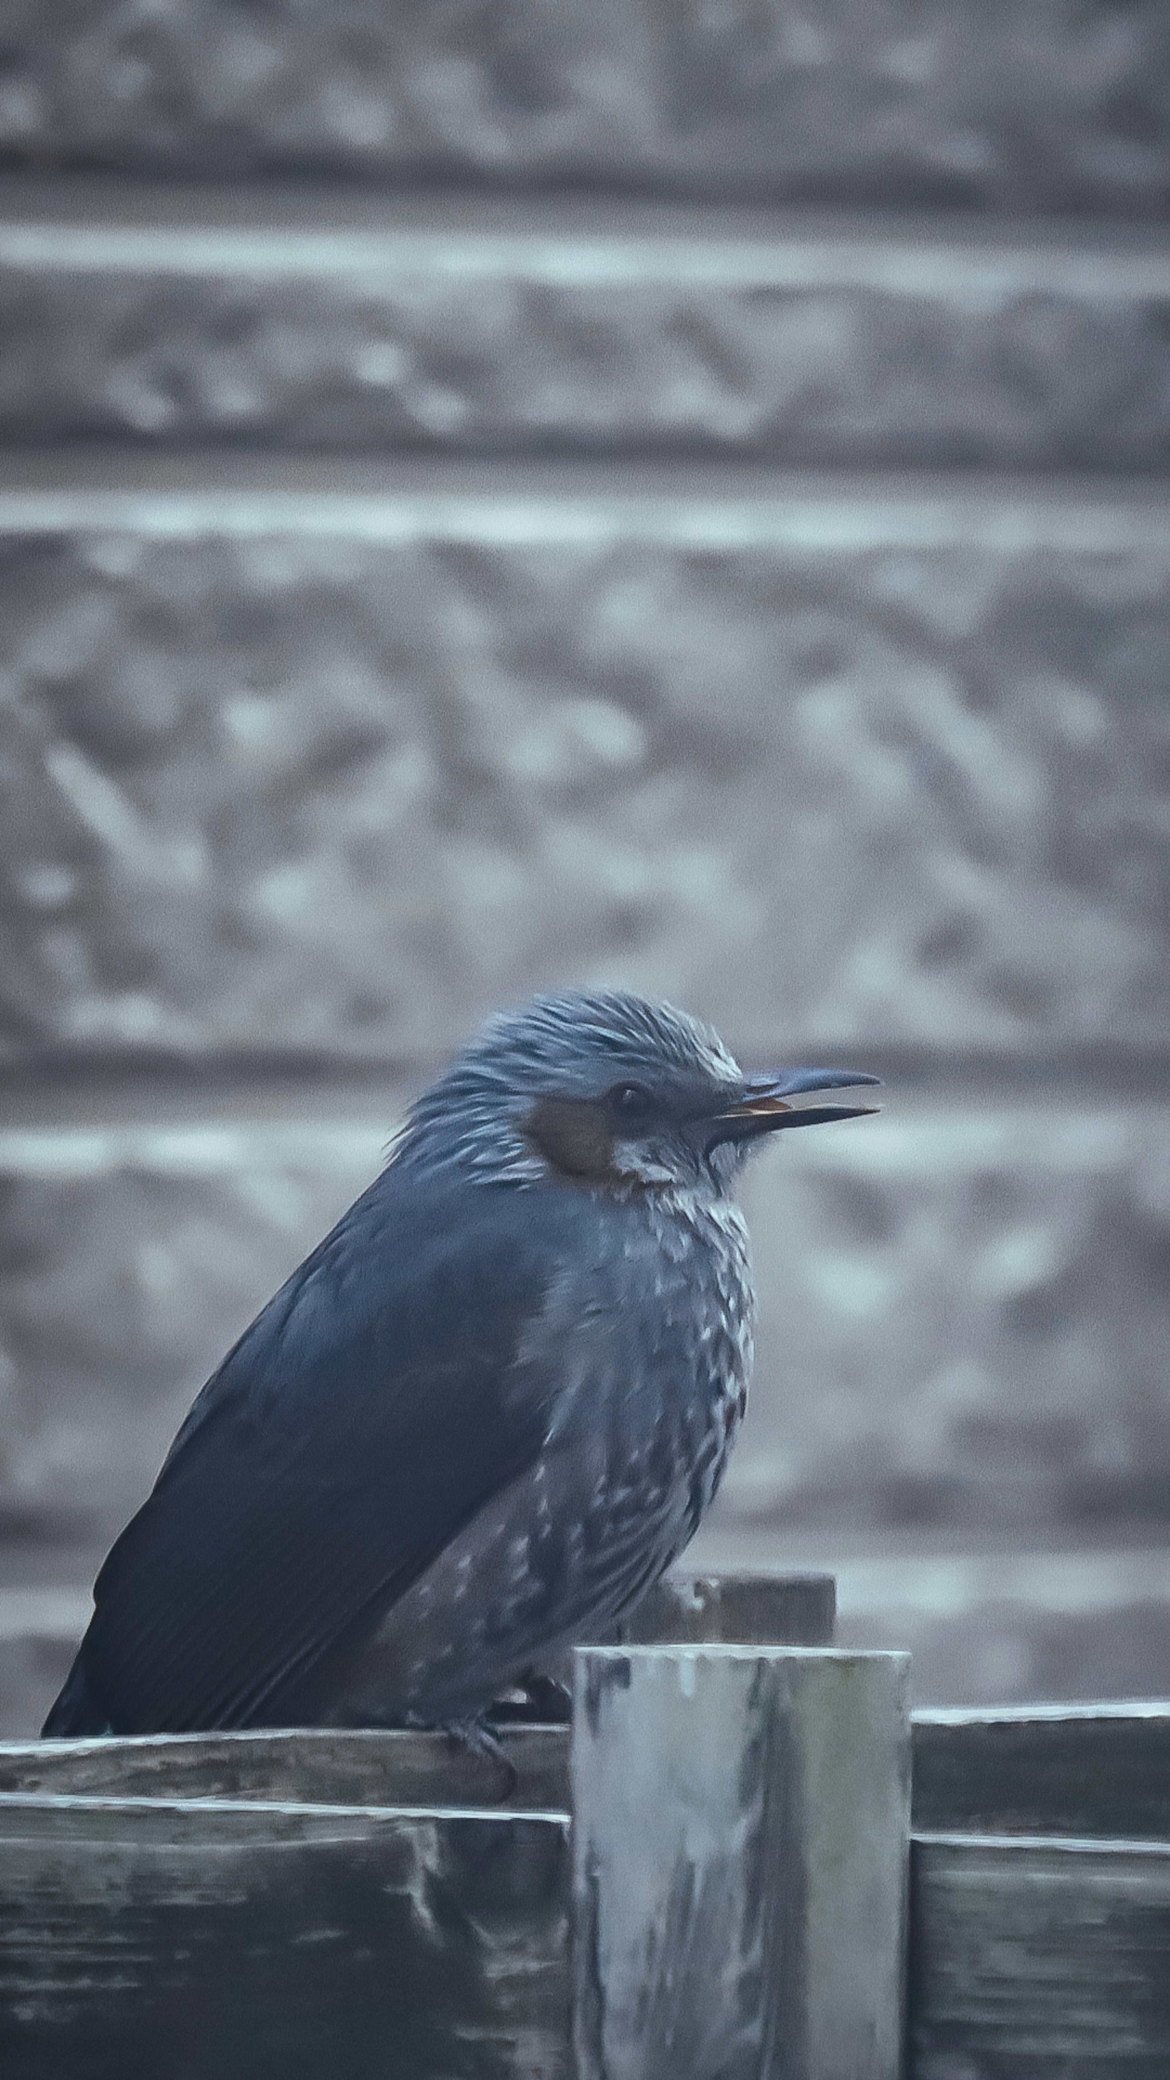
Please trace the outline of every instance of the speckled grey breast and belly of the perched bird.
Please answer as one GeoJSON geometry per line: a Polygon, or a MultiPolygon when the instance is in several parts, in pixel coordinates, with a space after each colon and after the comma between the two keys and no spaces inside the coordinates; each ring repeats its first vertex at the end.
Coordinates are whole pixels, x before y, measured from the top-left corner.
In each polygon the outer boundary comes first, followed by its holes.
{"type": "Polygon", "coordinates": [[[446,1545],[356,1658],[335,1718],[458,1724],[606,1637],[683,1552],[747,1400],[747,1229],[724,1202],[597,1208],[514,1367],[539,1456],[446,1545]]]}

